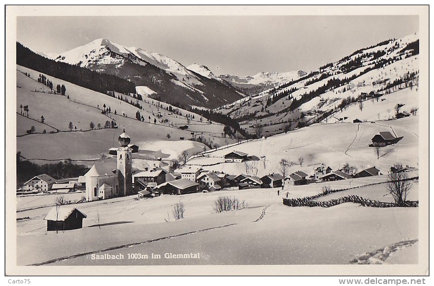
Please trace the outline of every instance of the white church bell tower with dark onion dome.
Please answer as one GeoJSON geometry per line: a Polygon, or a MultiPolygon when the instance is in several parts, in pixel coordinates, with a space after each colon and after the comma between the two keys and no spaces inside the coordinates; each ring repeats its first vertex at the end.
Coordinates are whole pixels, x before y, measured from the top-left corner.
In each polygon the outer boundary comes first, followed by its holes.
{"type": "Polygon", "coordinates": [[[131,149],[128,147],[130,140],[130,136],[125,133],[124,129],[118,138],[120,147],[117,151],[119,196],[133,194],[132,158],[131,149]]]}

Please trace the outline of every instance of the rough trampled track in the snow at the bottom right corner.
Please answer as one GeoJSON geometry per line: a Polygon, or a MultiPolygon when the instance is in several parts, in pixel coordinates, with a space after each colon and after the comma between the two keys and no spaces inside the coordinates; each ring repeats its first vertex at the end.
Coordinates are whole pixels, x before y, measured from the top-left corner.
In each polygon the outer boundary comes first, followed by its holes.
{"type": "Polygon", "coordinates": [[[390,254],[400,251],[404,247],[408,247],[418,242],[418,239],[405,240],[387,245],[375,251],[366,252],[356,255],[350,264],[383,264],[390,254]]]}

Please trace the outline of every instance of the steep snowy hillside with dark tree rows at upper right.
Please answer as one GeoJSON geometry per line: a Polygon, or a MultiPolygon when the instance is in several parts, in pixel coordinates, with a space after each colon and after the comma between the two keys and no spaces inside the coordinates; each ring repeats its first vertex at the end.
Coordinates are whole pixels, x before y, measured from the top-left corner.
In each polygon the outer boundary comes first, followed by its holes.
{"type": "Polygon", "coordinates": [[[260,124],[262,135],[316,122],[391,119],[397,104],[403,105],[400,113],[415,114],[418,53],[418,34],[387,40],[216,111],[236,118],[250,133],[260,124]]]}

